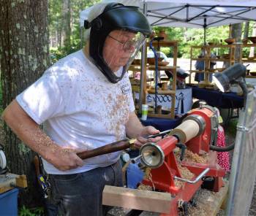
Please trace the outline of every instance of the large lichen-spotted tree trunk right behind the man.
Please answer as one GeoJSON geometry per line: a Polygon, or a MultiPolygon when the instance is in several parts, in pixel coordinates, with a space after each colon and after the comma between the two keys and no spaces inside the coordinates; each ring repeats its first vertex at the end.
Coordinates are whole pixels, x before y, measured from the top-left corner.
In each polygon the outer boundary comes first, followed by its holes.
{"type": "MultiPolygon", "coordinates": [[[[48,66],[48,0],[0,1],[0,57],[3,106],[37,80],[48,66]]],[[[26,174],[29,187],[20,203],[37,205],[39,187],[32,159],[34,153],[10,128],[5,127],[7,166],[26,174]]]]}

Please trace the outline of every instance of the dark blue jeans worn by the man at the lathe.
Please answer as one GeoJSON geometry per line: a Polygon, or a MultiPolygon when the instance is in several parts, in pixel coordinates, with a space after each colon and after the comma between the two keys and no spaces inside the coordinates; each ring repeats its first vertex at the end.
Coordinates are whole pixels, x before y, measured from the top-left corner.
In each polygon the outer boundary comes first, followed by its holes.
{"type": "Polygon", "coordinates": [[[109,207],[102,207],[105,185],[122,186],[121,161],[78,174],[50,174],[52,202],[58,215],[102,216],[109,207]]]}

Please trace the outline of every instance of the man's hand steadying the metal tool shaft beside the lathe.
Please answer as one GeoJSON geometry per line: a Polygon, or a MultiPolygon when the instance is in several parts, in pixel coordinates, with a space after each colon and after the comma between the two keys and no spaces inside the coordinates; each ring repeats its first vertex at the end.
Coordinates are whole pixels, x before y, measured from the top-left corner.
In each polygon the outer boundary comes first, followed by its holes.
{"type": "Polygon", "coordinates": [[[157,136],[155,138],[146,139],[146,136],[158,134],[160,131],[152,126],[146,126],[141,131],[137,140],[135,141],[135,147],[141,147],[143,144],[147,142],[158,142],[161,139],[161,136],[157,136]]]}

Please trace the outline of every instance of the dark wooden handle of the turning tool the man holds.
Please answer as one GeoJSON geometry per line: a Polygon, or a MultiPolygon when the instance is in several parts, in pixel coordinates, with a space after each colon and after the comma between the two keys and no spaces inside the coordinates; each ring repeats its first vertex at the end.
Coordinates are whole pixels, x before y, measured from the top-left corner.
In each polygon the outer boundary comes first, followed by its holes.
{"type": "Polygon", "coordinates": [[[118,142],[113,142],[110,144],[106,144],[105,146],[102,147],[98,147],[94,150],[88,150],[88,151],[84,151],[81,153],[78,153],[78,157],[81,159],[87,159],[87,158],[92,158],[98,155],[105,155],[108,153],[114,153],[120,150],[125,150],[127,148],[130,147],[130,143],[128,139],[123,139],[121,141],[118,142]]]}

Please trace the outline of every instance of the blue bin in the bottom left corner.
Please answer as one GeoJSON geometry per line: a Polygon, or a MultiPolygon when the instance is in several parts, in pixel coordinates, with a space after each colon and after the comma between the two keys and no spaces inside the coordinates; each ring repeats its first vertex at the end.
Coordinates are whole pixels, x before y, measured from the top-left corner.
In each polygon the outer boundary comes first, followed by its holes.
{"type": "Polygon", "coordinates": [[[5,193],[0,193],[0,215],[18,215],[18,189],[14,188],[5,193]]]}

